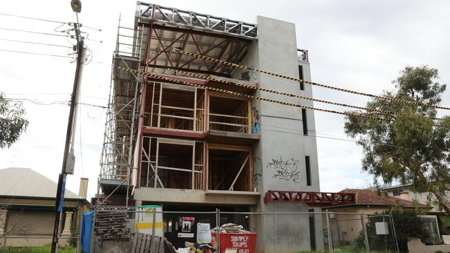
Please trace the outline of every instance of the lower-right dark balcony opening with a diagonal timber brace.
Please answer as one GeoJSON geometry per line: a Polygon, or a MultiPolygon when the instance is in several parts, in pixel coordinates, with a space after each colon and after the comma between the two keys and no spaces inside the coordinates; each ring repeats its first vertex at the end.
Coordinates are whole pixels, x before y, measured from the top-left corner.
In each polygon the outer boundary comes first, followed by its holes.
{"type": "Polygon", "coordinates": [[[251,153],[247,149],[210,144],[208,148],[208,189],[252,191],[251,153]]]}

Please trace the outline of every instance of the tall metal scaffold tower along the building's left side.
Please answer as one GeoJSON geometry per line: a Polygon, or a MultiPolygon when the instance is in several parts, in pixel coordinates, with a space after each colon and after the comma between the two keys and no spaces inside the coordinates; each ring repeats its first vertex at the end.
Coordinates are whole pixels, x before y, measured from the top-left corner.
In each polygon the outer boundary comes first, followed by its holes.
{"type": "MultiPolygon", "coordinates": [[[[104,192],[105,187],[102,187],[102,180],[107,180],[109,184],[116,182],[117,186],[123,185],[123,187],[127,187],[127,191],[129,188],[129,178],[131,178],[133,166],[133,145],[136,141],[134,134],[138,120],[138,95],[141,79],[138,75],[121,71],[117,67],[139,70],[140,56],[143,53],[141,41],[143,41],[144,31],[144,29],[120,27],[119,19],[116,50],[111,69],[104,142],[100,158],[99,184],[104,192]],[[123,180],[127,182],[124,184],[123,180]]],[[[105,193],[109,194],[109,192],[105,193]]]]}

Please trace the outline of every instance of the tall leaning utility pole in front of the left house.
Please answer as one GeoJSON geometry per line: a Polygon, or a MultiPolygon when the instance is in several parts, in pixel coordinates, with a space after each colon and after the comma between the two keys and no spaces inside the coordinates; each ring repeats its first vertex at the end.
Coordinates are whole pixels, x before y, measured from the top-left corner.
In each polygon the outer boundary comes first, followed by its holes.
{"type": "MultiPolygon", "coordinates": [[[[80,10],[81,10],[81,3],[80,3],[80,10]]],[[[53,227],[53,239],[51,247],[52,253],[57,252],[58,241],[61,232],[62,210],[64,205],[64,191],[66,189],[66,177],[67,174],[73,174],[73,166],[75,163],[75,156],[73,156],[73,146],[75,144],[76,115],[78,111],[79,90],[84,65],[85,48],[84,48],[84,39],[80,36],[80,24],[75,23],[73,24],[73,27],[75,28],[75,35],[77,39],[76,48],[74,48],[74,50],[76,50],[77,52],[77,66],[75,69],[75,79],[73,81],[71,108],[69,112],[69,122],[67,124],[67,132],[66,132],[66,144],[64,145],[64,156],[62,158],[62,169],[60,173],[60,178],[58,180],[56,192],[55,225],[53,227]]]]}

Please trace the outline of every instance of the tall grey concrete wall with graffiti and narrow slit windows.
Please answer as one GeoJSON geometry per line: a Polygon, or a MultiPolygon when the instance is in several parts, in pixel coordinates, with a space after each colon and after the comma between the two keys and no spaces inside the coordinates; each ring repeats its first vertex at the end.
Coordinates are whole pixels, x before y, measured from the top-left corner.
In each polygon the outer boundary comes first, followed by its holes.
{"type": "MultiPolygon", "coordinates": [[[[258,17],[259,39],[249,49],[245,64],[290,77],[298,77],[298,59],[295,25],[258,17]]],[[[305,79],[310,79],[309,65],[304,69],[305,79]]],[[[259,86],[276,91],[297,95],[312,95],[310,86],[300,91],[298,82],[287,79],[258,75],[259,86]]],[[[256,92],[255,95],[273,100],[307,104],[295,97],[286,97],[273,93],[256,92]]],[[[301,109],[272,102],[253,101],[260,116],[260,142],[254,147],[255,184],[262,197],[267,190],[319,191],[317,148],[315,138],[303,135],[301,109]],[[310,156],[312,185],[307,186],[305,156],[310,156]],[[255,180],[256,181],[256,180],[255,180]]],[[[307,111],[308,129],[315,131],[314,113],[307,111]]],[[[307,205],[296,203],[267,203],[260,198],[255,211],[260,212],[308,212],[307,205]]],[[[309,215],[277,215],[276,235],[273,228],[273,216],[260,218],[255,229],[258,232],[258,252],[273,252],[276,245],[278,252],[295,252],[309,250],[309,215]],[[275,241],[275,239],[277,239],[275,241]]],[[[323,245],[321,218],[316,218],[317,245],[323,245]]]]}

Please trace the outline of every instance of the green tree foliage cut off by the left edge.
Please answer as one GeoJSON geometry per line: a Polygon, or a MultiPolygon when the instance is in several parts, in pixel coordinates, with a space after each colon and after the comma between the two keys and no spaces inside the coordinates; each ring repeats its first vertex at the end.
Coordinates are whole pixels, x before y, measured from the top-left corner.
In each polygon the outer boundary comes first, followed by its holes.
{"type": "Polygon", "coordinates": [[[21,102],[10,102],[0,92],[0,149],[11,147],[28,127],[21,102]]]}

